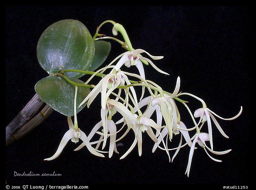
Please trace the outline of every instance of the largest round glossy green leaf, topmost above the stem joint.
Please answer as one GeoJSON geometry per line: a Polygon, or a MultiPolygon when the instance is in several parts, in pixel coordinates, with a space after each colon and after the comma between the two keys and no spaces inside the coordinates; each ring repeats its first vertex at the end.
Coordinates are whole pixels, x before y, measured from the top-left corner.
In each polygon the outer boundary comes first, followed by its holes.
{"type": "MultiPolygon", "coordinates": [[[[89,70],[94,59],[92,36],[80,21],[60,20],[40,36],[37,59],[50,75],[66,69],[89,70]]],[[[69,72],[66,76],[80,78],[83,74],[69,72]]]]}

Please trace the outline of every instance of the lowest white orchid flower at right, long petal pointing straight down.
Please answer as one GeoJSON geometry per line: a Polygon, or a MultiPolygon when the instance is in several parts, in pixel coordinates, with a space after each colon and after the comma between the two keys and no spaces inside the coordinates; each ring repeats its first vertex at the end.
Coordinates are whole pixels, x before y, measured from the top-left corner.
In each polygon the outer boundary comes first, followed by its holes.
{"type": "Polygon", "coordinates": [[[209,134],[208,133],[200,132],[200,133],[196,134],[195,139],[193,140],[192,146],[191,146],[190,151],[189,151],[188,165],[187,165],[187,169],[186,169],[185,174],[189,175],[189,171],[190,171],[190,168],[191,168],[191,163],[192,163],[192,158],[193,158],[193,155],[194,155],[194,149],[195,149],[196,143],[198,143],[200,145],[200,147],[204,148],[204,151],[207,153],[207,155],[212,160],[214,160],[216,162],[221,162],[221,160],[212,158],[212,156],[210,156],[208,154],[208,152],[206,151],[205,147],[208,149],[208,151],[210,151],[210,152],[212,152],[213,154],[216,154],[216,155],[227,154],[228,152],[231,151],[231,149],[229,149],[227,151],[213,151],[205,143],[205,141],[209,141],[209,140],[210,140],[210,138],[209,138],[209,134]]]}

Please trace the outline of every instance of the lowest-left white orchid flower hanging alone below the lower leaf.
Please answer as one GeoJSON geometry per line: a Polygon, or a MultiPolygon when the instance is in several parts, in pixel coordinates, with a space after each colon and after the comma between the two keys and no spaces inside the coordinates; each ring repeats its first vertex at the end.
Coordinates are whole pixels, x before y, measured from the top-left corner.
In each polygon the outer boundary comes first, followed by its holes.
{"type": "Polygon", "coordinates": [[[88,148],[88,150],[96,156],[100,156],[100,157],[104,157],[104,155],[100,154],[99,152],[97,152],[90,144],[87,136],[85,135],[84,132],[82,132],[80,130],[80,128],[74,128],[74,124],[71,120],[71,117],[68,117],[68,126],[69,126],[69,130],[64,134],[62,140],[60,141],[60,145],[56,151],[56,153],[47,159],[44,160],[53,160],[56,159],[60,153],[63,151],[64,147],[66,146],[66,144],[68,143],[69,140],[71,140],[72,142],[77,143],[79,139],[81,139],[85,146],[88,148]]]}

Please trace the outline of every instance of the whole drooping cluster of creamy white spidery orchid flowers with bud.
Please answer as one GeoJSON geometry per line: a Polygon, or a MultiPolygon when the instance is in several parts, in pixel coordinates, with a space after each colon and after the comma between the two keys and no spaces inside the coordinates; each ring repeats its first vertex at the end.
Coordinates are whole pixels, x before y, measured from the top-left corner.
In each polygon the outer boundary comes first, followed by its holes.
{"type": "MultiPolygon", "coordinates": [[[[101,77],[100,81],[97,85],[90,85],[93,89],[78,106],[80,107],[87,103],[87,107],[90,108],[91,104],[97,98],[100,98],[101,107],[98,122],[88,135],[78,127],[76,86],[74,123],[72,118],[68,117],[69,130],[64,134],[56,153],[45,160],[56,159],[69,140],[78,143],[79,139],[83,142],[75,151],[86,147],[93,155],[105,157],[104,154],[108,154],[108,157],[111,158],[114,152],[119,153],[117,143],[121,142],[129,132],[132,132],[134,133],[134,140],[130,147],[127,147],[127,151],[121,155],[120,159],[127,157],[135,147],[138,149],[139,156],[142,155],[143,138],[149,136],[152,140],[152,152],[155,152],[157,148],[166,152],[169,162],[173,161],[181,148],[190,147],[187,158],[188,165],[185,171],[187,175],[189,175],[192,157],[197,148],[196,143],[204,149],[209,158],[216,162],[221,162],[221,160],[213,158],[210,154],[223,155],[230,152],[231,149],[225,151],[214,150],[212,128],[216,127],[222,136],[228,138],[216,118],[222,120],[236,119],[240,116],[242,107],[238,114],[232,118],[220,117],[211,109],[208,109],[206,103],[200,97],[191,93],[181,93],[180,77],[177,77],[176,86],[172,93],[164,91],[155,82],[147,80],[144,72],[144,64],[146,64],[152,66],[160,74],[169,75],[152,62],[152,60],[162,59],[163,56],[153,56],[145,50],[133,49],[122,25],[119,23],[113,23],[113,25],[113,35],[117,35],[118,31],[123,35],[125,39],[123,47],[126,47],[127,51],[92,74],[84,83],[85,85],[89,85],[93,78],[99,76],[101,77]],[[125,71],[132,66],[136,66],[138,72],[125,71]],[[145,96],[146,93],[148,93],[147,96],[145,96]],[[138,96],[139,94],[140,97],[138,96]],[[201,102],[202,107],[192,112],[187,105],[188,102],[181,99],[182,96],[195,98],[201,102]],[[180,102],[188,110],[193,122],[192,126],[186,126],[181,120],[180,112],[176,105],[177,102],[180,102]],[[180,143],[177,147],[171,148],[170,144],[172,144],[174,136],[180,136],[180,143]],[[93,140],[96,138],[97,140],[93,140]],[[207,141],[209,141],[209,145],[206,143],[207,141]],[[171,151],[174,151],[172,157],[171,151]]],[[[104,39],[103,37],[100,38],[104,39]]]]}

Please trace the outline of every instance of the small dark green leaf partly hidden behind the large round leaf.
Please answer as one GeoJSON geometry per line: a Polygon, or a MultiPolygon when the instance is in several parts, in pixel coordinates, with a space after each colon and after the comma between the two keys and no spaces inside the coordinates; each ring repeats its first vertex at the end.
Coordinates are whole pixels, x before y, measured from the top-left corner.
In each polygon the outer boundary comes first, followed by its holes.
{"type": "Polygon", "coordinates": [[[91,71],[96,70],[102,65],[102,63],[104,63],[104,61],[107,59],[108,54],[111,50],[111,44],[106,41],[95,41],[94,46],[95,46],[95,57],[92,62],[92,66],[90,68],[91,71]]]}

